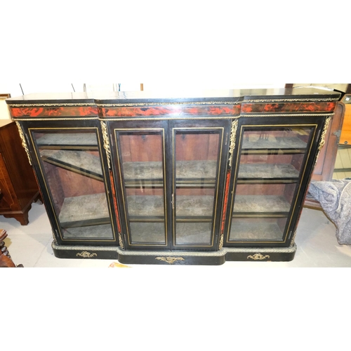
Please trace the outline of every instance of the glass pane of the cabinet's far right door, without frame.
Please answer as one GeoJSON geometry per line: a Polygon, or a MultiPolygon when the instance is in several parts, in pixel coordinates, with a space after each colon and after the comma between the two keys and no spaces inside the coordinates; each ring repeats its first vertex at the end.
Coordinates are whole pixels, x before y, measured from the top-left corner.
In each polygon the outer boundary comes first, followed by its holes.
{"type": "Polygon", "coordinates": [[[230,241],[282,241],[313,128],[243,126],[230,241]]]}

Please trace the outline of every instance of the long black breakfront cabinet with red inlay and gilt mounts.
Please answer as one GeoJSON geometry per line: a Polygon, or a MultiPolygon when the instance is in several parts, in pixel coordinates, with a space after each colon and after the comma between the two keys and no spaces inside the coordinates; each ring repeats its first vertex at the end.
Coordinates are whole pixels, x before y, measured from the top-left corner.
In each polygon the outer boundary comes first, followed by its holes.
{"type": "Polygon", "coordinates": [[[58,258],[292,260],[339,93],[146,92],[6,100],[58,258]]]}

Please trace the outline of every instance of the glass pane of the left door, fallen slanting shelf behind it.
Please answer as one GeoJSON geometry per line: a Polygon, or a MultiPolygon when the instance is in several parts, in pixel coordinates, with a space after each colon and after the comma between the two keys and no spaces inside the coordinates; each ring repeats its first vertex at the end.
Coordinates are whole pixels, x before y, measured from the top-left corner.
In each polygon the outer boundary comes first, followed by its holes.
{"type": "Polygon", "coordinates": [[[41,129],[32,138],[62,239],[114,239],[97,128],[41,129]]]}

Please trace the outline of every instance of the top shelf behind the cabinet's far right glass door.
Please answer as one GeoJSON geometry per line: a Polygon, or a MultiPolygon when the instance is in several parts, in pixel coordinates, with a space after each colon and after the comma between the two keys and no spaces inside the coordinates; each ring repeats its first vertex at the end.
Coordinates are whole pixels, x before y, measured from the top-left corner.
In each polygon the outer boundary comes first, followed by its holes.
{"type": "Polygon", "coordinates": [[[244,135],[241,150],[296,150],[305,152],[307,143],[300,138],[274,137],[266,134],[261,137],[258,134],[244,135]]]}

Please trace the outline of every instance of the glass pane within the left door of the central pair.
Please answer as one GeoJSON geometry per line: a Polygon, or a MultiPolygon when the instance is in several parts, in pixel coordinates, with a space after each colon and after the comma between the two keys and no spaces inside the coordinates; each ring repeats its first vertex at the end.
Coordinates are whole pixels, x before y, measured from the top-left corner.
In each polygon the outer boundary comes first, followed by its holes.
{"type": "Polygon", "coordinates": [[[128,243],[166,245],[164,129],[115,129],[128,243]]]}

